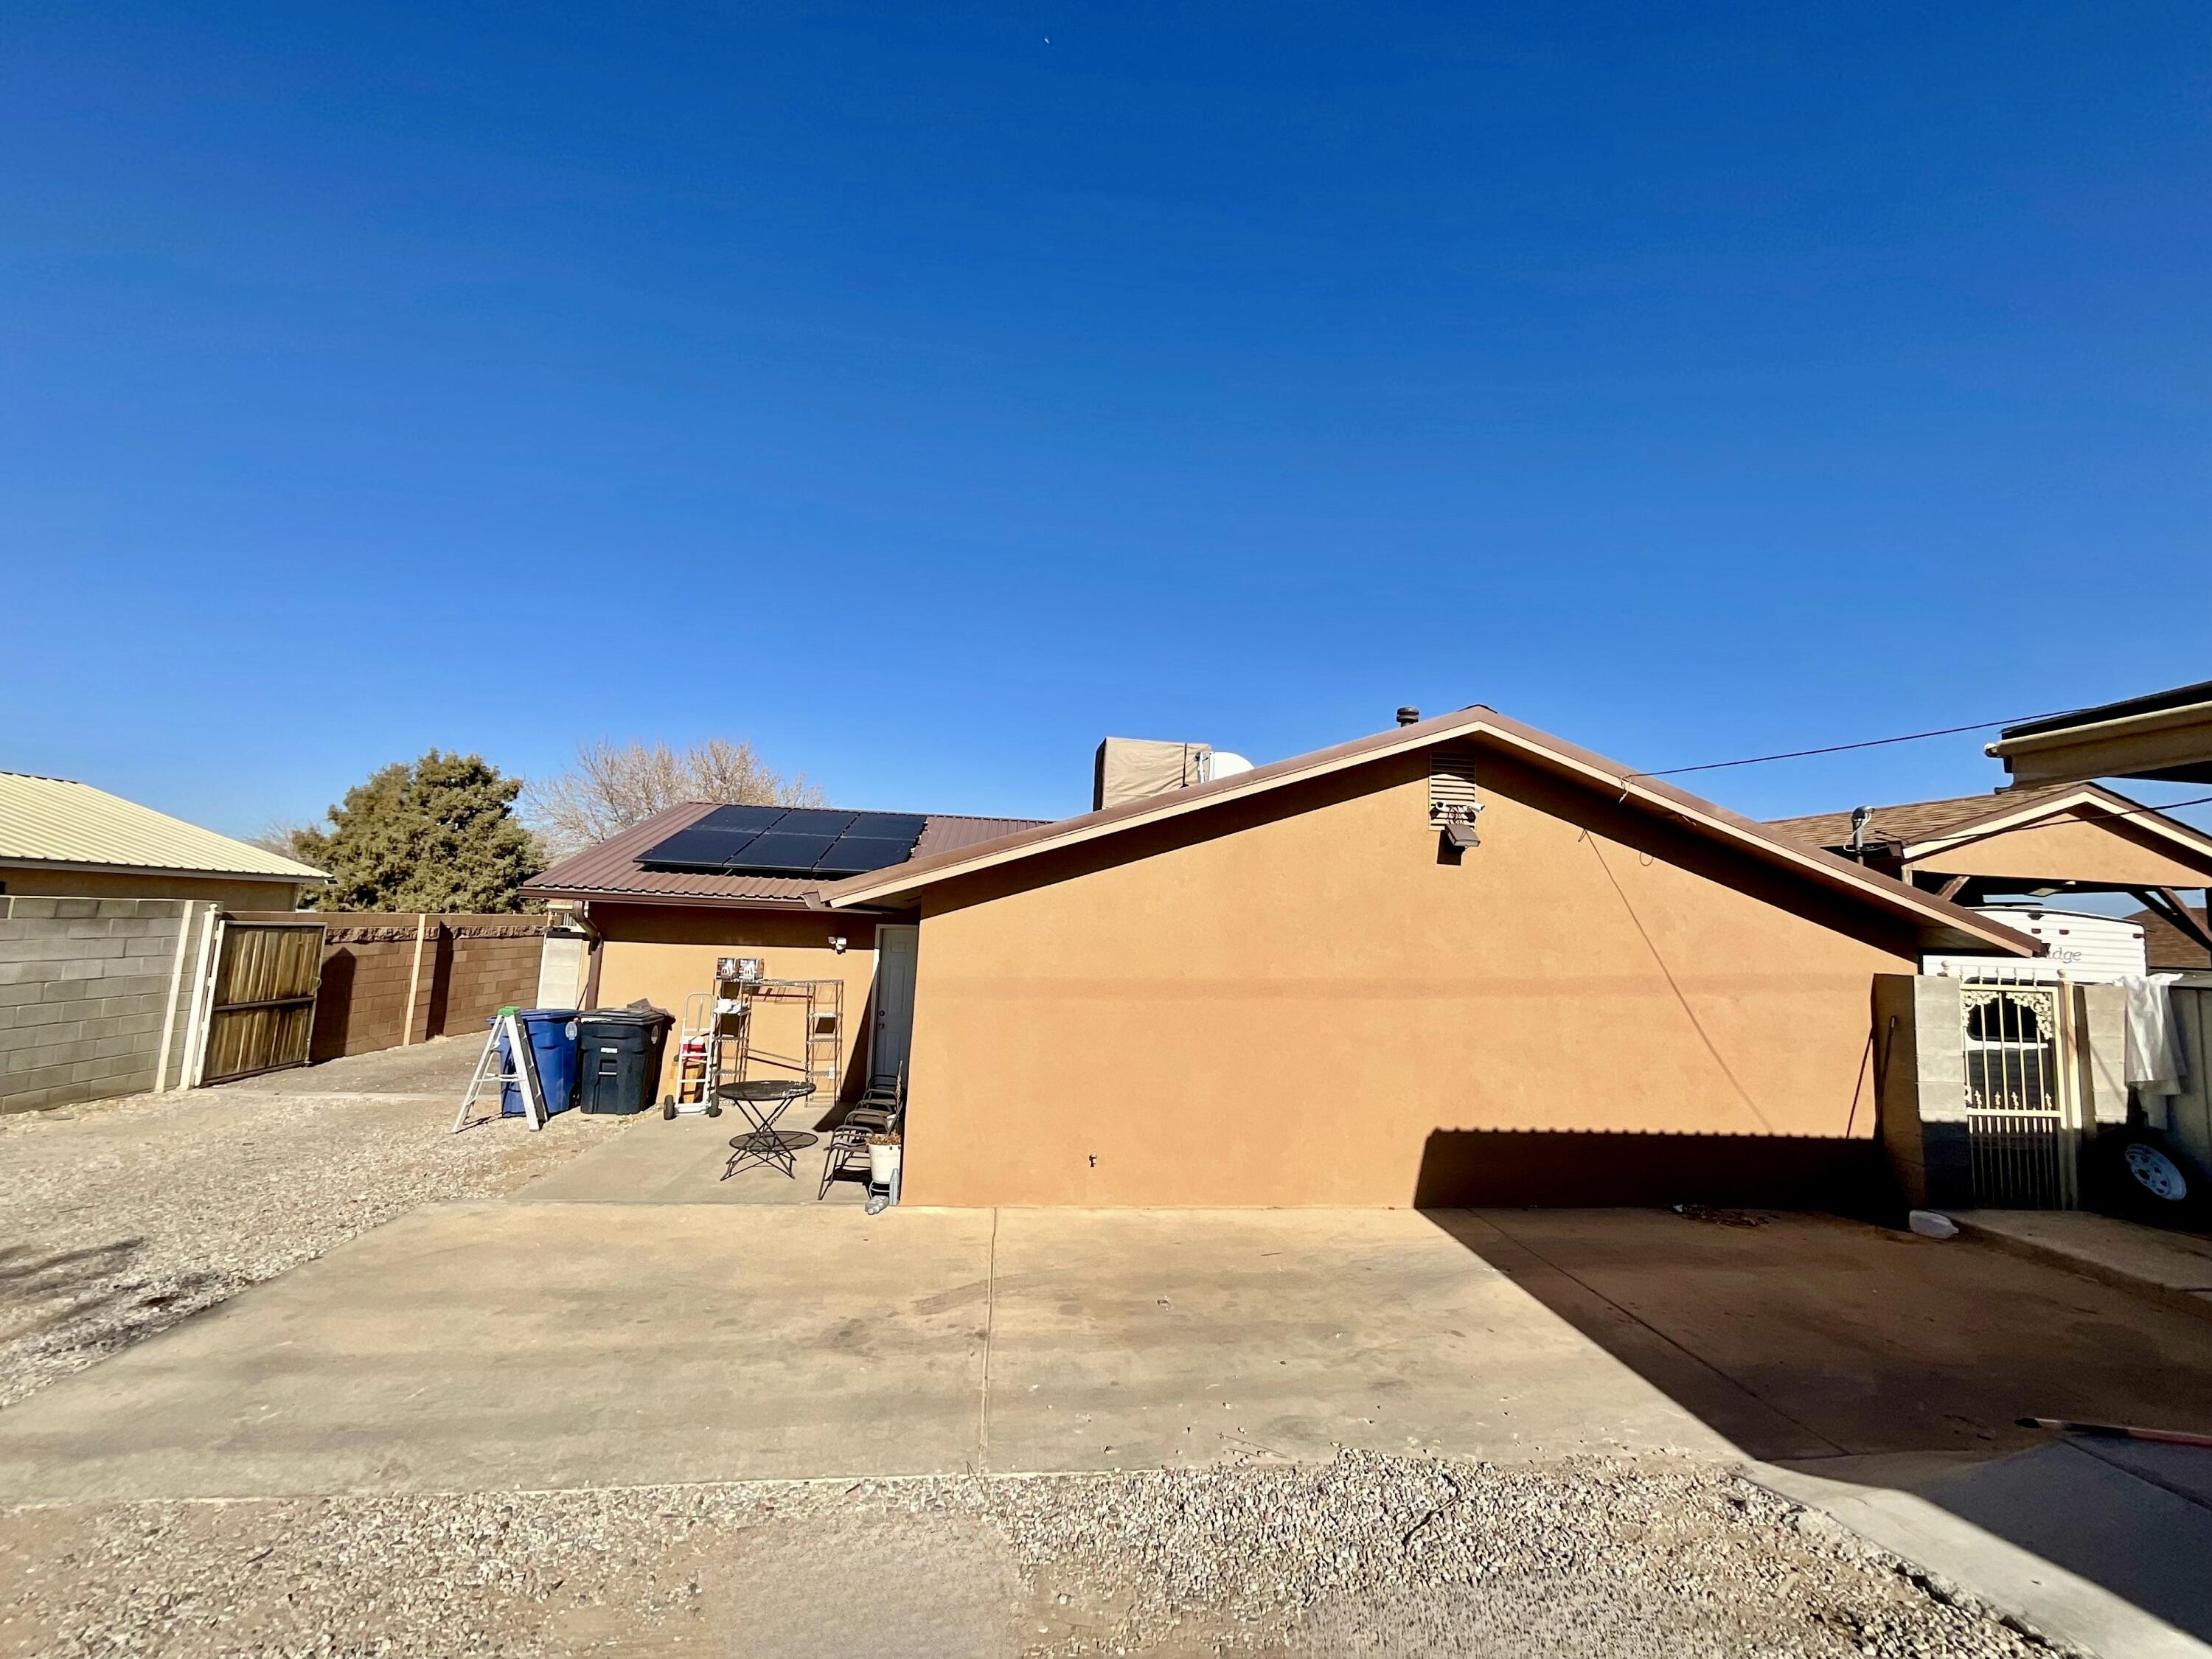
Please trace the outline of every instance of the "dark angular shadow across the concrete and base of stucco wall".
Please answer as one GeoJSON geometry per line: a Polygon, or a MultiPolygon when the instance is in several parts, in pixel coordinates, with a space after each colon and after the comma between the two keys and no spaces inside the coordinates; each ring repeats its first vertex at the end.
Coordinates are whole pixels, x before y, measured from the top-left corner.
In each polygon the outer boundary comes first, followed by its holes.
{"type": "Polygon", "coordinates": [[[1836,1192],[1838,1150],[1438,1130],[1420,1192],[1473,1199],[1429,1219],[1747,1455],[1909,1493],[2212,1639],[2212,1453],[2015,1422],[2212,1431],[2212,1318],[1966,1239],[1705,1208],[1836,1192]],[[1681,1175],[1690,1212],[1482,1208],[1546,1172],[1624,1194],[1681,1175]]]}

